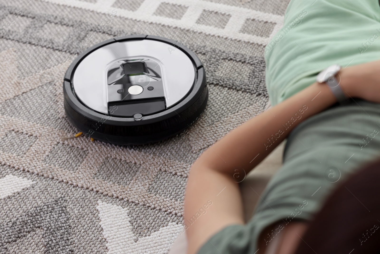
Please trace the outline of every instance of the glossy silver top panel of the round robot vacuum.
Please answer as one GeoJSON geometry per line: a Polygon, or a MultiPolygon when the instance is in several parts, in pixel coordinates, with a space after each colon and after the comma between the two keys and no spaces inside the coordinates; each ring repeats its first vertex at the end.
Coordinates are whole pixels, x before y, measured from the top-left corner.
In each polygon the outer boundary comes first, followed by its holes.
{"type": "MultiPolygon", "coordinates": [[[[148,59],[150,64],[157,63],[155,67],[157,70],[161,70],[166,107],[179,102],[193,86],[195,68],[183,51],[168,43],[145,39],[111,43],[86,56],[74,72],[73,88],[76,95],[91,109],[108,113],[108,88],[112,87],[112,81],[116,80],[117,75],[120,74],[116,73],[116,76],[108,77],[108,71],[117,65],[117,62],[135,61],[135,59],[148,59]]],[[[140,78],[143,78],[144,83],[149,82],[149,78],[152,78],[146,75],[137,77],[139,79],[136,79],[135,85],[139,85],[140,78]]],[[[131,83],[133,82],[131,81],[131,83]]],[[[142,86],[146,87],[146,84],[142,86]]],[[[112,89],[116,88],[115,86],[112,89]]],[[[150,92],[153,93],[155,90],[150,92]]]]}

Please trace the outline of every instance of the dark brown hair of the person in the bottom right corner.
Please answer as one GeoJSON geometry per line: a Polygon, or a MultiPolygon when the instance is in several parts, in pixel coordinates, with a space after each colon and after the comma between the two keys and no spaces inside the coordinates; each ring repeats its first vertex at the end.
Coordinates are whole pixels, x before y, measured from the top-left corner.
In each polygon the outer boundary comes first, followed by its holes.
{"type": "Polygon", "coordinates": [[[310,221],[295,254],[380,253],[380,160],[337,187],[310,221]]]}

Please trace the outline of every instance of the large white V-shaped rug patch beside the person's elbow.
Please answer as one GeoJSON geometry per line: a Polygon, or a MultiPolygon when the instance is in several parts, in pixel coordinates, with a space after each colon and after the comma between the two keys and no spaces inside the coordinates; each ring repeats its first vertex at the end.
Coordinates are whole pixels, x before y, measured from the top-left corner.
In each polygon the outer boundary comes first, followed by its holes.
{"type": "Polygon", "coordinates": [[[100,225],[103,236],[107,240],[108,254],[128,253],[162,253],[168,251],[180,230],[182,224],[169,223],[150,236],[137,239],[132,231],[128,208],[98,201],[100,225]]]}

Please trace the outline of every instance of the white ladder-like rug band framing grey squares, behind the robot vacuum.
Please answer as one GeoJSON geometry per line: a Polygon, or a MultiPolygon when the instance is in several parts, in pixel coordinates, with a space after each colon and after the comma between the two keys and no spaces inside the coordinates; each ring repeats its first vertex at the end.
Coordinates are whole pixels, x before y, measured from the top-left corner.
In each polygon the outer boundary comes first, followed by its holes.
{"type": "MultiPolygon", "coordinates": [[[[109,14],[113,10],[117,11],[117,16],[125,17],[128,19],[136,19],[138,21],[152,22],[164,26],[180,27],[182,29],[191,29],[196,25],[199,15],[203,10],[210,10],[212,13],[217,13],[214,22],[209,22],[214,26],[197,26],[197,32],[203,32],[209,35],[217,35],[223,38],[230,38],[234,40],[242,40],[245,42],[258,43],[266,45],[270,38],[278,31],[283,25],[283,16],[277,14],[268,14],[262,11],[250,10],[242,7],[225,5],[223,3],[212,3],[204,0],[165,0],[165,4],[157,0],[144,0],[138,8],[129,10],[128,0],[127,3],[121,3],[122,0],[114,1],[98,1],[97,3],[89,3],[81,0],[43,0],[49,3],[60,5],[67,5],[76,8],[86,9],[99,13],[109,14]],[[115,4],[114,4],[115,3],[115,4]],[[120,4],[121,3],[121,4],[120,4]],[[126,5],[126,6],[124,6],[126,5]],[[174,17],[173,11],[168,10],[165,6],[186,6],[186,11],[179,10],[182,15],[174,17]],[[116,9],[115,9],[116,7],[116,9]],[[161,10],[162,9],[162,10],[161,10]],[[164,10],[165,9],[165,10],[164,10]],[[161,13],[157,15],[156,11],[161,13]],[[166,14],[164,14],[164,11],[166,14]],[[218,14],[219,13],[219,14],[218,14]],[[222,13],[222,14],[221,14],[222,13]],[[170,16],[170,18],[168,18],[170,16]],[[174,17],[174,18],[173,18],[174,17]],[[246,19],[256,19],[258,21],[274,22],[275,26],[272,33],[268,37],[261,37],[255,34],[241,32],[241,27],[244,25],[246,19]],[[217,24],[216,20],[222,20],[221,24],[217,24]]],[[[140,3],[140,1],[138,1],[140,3]]],[[[199,24],[199,23],[198,23],[199,24]]]]}

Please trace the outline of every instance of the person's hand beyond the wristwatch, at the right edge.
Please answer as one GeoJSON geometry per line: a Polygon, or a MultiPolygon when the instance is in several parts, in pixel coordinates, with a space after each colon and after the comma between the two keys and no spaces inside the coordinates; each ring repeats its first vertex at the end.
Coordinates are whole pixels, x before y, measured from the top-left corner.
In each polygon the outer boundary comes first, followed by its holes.
{"type": "Polygon", "coordinates": [[[380,103],[380,61],[343,68],[339,77],[347,97],[380,103]]]}

